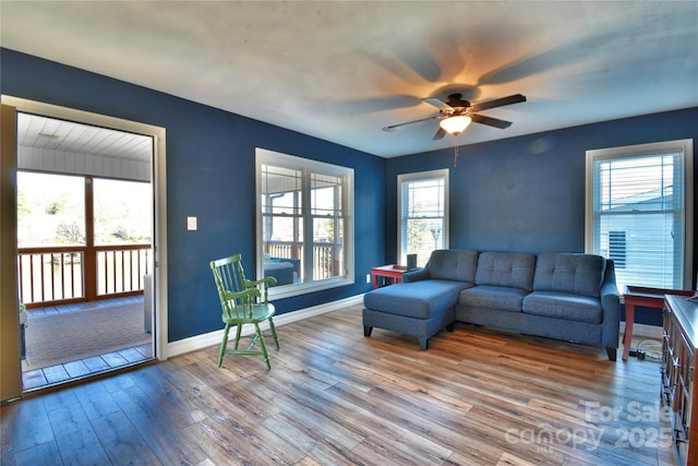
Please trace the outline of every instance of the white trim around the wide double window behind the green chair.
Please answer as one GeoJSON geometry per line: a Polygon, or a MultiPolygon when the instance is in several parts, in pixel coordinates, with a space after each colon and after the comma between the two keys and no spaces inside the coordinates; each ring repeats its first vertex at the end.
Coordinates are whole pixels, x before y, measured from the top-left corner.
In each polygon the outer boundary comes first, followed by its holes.
{"type": "Polygon", "coordinates": [[[292,296],[305,295],[314,291],[321,291],[324,289],[336,288],[340,286],[352,285],[354,283],[354,212],[353,212],[353,169],[348,167],[341,167],[338,165],[326,164],[323,162],[312,160],[309,158],[297,157],[293,155],[282,154],[279,152],[269,151],[262,147],[255,148],[255,231],[256,231],[256,250],[255,250],[255,264],[257,271],[257,278],[262,278],[264,265],[262,260],[263,246],[263,216],[262,216],[262,165],[274,164],[281,167],[298,167],[303,166],[309,169],[317,169],[321,172],[328,175],[347,175],[350,174],[349,181],[347,182],[345,196],[345,208],[347,212],[347,219],[349,219],[349,227],[345,237],[345,274],[342,277],[333,277],[323,279],[320,282],[310,282],[298,285],[287,285],[269,288],[270,299],[290,298],[292,296]]]}

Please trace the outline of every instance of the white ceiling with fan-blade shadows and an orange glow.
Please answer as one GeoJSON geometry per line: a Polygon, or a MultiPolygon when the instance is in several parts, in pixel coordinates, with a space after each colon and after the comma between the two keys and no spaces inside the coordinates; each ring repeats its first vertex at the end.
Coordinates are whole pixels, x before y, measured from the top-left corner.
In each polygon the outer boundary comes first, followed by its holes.
{"type": "Polygon", "coordinates": [[[392,157],[698,106],[697,1],[0,1],[3,47],[392,157]]]}

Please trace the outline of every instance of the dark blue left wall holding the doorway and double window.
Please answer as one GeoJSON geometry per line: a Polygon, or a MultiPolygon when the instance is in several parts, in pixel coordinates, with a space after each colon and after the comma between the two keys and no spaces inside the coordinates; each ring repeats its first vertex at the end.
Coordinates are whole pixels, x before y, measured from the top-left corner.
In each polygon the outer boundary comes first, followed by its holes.
{"type": "Polygon", "coordinates": [[[221,327],[208,262],[234,252],[254,271],[254,150],[264,147],[354,169],[356,284],[275,301],[285,313],[366,291],[385,258],[385,160],[249,118],[0,49],[0,92],[167,130],[169,340],[221,327]],[[376,208],[378,206],[378,208],[376,208]],[[198,230],[186,230],[186,217],[198,230]]]}

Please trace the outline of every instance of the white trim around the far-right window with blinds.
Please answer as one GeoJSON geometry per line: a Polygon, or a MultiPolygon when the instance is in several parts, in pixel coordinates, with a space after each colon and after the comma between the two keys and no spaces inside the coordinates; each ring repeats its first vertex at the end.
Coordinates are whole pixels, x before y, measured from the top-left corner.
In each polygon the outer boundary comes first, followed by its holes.
{"type": "MultiPolygon", "coordinates": [[[[694,289],[694,141],[690,139],[664,141],[649,144],[627,145],[619,147],[587,151],[586,164],[586,206],[585,206],[585,251],[593,253],[593,164],[597,160],[623,157],[637,157],[643,154],[666,153],[670,151],[684,154],[684,189],[685,189],[685,240],[684,240],[684,276],[683,289],[694,289]]],[[[621,290],[624,292],[624,290],[621,290]]]]}

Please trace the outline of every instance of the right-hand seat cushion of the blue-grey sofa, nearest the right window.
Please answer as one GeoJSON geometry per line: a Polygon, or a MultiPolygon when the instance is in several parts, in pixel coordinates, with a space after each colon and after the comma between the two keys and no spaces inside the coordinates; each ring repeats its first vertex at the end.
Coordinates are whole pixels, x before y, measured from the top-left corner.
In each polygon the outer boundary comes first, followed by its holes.
{"type": "Polygon", "coordinates": [[[603,309],[598,299],[564,292],[533,291],[524,298],[524,312],[599,324],[603,309]]]}

